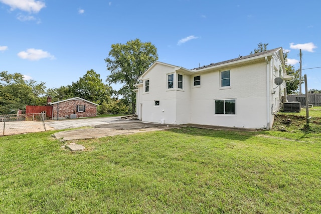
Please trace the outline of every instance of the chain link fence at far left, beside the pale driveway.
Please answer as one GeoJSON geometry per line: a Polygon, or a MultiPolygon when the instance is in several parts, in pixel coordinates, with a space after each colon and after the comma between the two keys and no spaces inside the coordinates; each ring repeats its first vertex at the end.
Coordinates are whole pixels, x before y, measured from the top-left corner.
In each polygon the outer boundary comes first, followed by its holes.
{"type": "Polygon", "coordinates": [[[46,131],[46,113],[0,115],[0,136],[46,131]]]}

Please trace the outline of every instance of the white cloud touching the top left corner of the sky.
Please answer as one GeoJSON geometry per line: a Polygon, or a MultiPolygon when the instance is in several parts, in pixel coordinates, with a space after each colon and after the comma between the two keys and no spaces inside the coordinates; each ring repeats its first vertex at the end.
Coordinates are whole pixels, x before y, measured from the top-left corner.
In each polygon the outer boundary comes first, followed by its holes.
{"type": "Polygon", "coordinates": [[[38,13],[46,7],[44,2],[35,0],[0,0],[0,2],[9,5],[12,11],[19,9],[31,13],[38,13]]]}

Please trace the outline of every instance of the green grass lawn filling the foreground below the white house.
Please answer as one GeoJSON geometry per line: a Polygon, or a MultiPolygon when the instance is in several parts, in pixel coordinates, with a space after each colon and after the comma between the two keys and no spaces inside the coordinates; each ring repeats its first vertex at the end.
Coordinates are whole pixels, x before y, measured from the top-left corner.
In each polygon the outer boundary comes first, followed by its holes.
{"type": "Polygon", "coordinates": [[[283,125],[75,141],[83,152],[54,131],[4,136],[0,213],[320,213],[320,125],[283,125]]]}

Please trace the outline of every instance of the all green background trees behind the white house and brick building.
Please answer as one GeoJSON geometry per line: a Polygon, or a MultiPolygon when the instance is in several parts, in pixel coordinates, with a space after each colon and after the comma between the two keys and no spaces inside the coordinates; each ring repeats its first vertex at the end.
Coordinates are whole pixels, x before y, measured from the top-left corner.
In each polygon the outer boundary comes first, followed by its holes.
{"type": "MultiPolygon", "coordinates": [[[[267,45],[259,43],[254,53],[267,51],[267,45]]],[[[287,53],[284,53],[283,57],[286,62],[287,53]]],[[[0,73],[0,114],[16,114],[18,109],[24,110],[26,105],[46,105],[47,97],[51,97],[52,102],[81,97],[99,104],[98,114],[134,114],[136,103],[134,85],[139,83],[138,78],[156,60],[158,60],[156,47],[150,42],[135,39],[125,44],[111,45],[111,50],[105,59],[107,70],[110,72],[106,79],[108,84],[105,84],[100,75],[92,69],[71,85],[49,89],[44,82],[25,80],[20,73],[10,74],[8,71],[3,71],[0,73]],[[122,88],[115,91],[110,83],[120,83],[122,88]]],[[[287,94],[295,93],[300,84],[298,70],[287,64],[285,70],[288,75],[294,76],[294,80],[287,83],[287,94]]],[[[313,92],[320,91],[313,89],[313,92]]]]}

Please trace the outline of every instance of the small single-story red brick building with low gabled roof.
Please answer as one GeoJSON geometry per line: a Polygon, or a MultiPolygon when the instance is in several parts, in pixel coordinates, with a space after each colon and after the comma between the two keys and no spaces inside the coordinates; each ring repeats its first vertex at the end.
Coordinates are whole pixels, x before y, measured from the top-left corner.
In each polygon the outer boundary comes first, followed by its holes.
{"type": "Polygon", "coordinates": [[[97,116],[98,104],[80,97],[74,97],[48,104],[52,106],[53,120],[97,116]]]}

